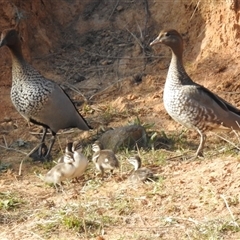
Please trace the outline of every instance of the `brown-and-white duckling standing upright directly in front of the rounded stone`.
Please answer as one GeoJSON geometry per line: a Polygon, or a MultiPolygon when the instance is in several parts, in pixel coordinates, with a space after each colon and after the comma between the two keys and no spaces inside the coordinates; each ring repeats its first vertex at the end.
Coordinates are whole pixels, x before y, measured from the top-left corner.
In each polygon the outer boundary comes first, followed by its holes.
{"type": "Polygon", "coordinates": [[[92,150],[94,151],[92,161],[96,169],[101,172],[102,178],[104,176],[104,170],[110,170],[112,174],[115,168],[119,168],[119,161],[112,150],[101,150],[97,143],[92,145],[92,150]]]}

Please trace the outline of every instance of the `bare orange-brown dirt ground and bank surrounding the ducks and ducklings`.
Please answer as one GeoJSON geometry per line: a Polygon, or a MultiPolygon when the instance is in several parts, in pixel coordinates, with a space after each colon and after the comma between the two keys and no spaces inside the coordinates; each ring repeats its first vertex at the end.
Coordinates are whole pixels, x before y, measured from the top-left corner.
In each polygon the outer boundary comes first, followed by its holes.
{"type": "Polygon", "coordinates": [[[37,174],[51,164],[26,157],[41,129],[27,124],[11,104],[11,59],[1,48],[1,239],[240,239],[239,137],[219,133],[223,140],[209,133],[205,157],[187,160],[199,136],[164,110],[170,52],[149,47],[162,28],[176,28],[184,37],[192,79],[240,107],[239,1],[0,4],[1,29],[20,22],[26,59],[65,87],[95,129],[60,132],[54,160],[67,139],[82,139],[91,159],[90,145],[101,129],[138,118],[151,125],[150,137],[157,133],[140,153],[144,166],[159,177],[131,184],[126,158],[135,152],[125,149],[117,153],[121,169],[112,178],[100,180],[90,163],[80,183],[65,184],[65,194],[45,185],[37,174]]]}

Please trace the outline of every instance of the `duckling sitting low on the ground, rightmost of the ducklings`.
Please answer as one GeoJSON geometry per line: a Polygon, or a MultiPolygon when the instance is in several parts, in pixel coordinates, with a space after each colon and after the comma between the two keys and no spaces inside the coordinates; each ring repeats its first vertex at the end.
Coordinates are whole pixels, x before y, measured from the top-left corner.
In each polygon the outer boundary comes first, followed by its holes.
{"type": "Polygon", "coordinates": [[[136,155],[134,157],[130,157],[128,159],[129,163],[131,163],[134,166],[134,171],[130,176],[131,181],[146,181],[148,179],[153,178],[153,172],[145,167],[141,167],[142,161],[141,158],[136,155]]]}

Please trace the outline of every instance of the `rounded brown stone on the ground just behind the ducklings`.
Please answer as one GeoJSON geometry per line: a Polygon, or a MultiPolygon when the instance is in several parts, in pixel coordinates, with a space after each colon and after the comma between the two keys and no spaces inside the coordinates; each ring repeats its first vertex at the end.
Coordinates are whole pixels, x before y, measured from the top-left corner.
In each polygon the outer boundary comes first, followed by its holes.
{"type": "Polygon", "coordinates": [[[147,146],[147,134],[140,125],[123,126],[105,132],[99,139],[103,149],[116,152],[121,147],[135,148],[147,146]]]}

